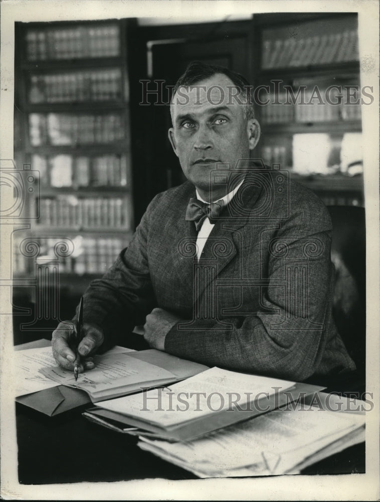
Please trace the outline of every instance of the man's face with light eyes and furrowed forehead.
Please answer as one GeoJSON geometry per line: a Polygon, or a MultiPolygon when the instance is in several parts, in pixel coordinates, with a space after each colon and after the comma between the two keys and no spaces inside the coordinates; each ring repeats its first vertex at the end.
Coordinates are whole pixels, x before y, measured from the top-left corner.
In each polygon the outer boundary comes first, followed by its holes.
{"type": "Polygon", "coordinates": [[[186,178],[210,192],[210,173],[217,164],[230,164],[233,170],[240,159],[249,159],[260,127],[257,120],[244,117],[244,106],[231,97],[236,88],[226,75],[214,75],[194,87],[180,87],[174,96],[169,140],[186,178]]]}

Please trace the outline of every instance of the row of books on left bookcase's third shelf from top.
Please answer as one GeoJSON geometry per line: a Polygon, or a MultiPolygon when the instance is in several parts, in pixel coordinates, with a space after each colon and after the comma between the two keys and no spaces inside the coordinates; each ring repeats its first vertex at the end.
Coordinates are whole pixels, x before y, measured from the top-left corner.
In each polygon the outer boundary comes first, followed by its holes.
{"type": "Polygon", "coordinates": [[[113,143],[125,137],[124,119],[117,113],[102,115],[31,113],[29,137],[34,147],[113,143]]]}

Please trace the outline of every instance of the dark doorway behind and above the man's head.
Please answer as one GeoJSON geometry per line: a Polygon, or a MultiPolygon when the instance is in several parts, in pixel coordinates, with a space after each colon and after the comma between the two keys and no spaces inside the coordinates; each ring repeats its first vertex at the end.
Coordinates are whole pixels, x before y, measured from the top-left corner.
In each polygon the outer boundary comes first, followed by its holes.
{"type": "MultiPolygon", "coordinates": [[[[147,94],[149,105],[139,106],[140,126],[132,134],[143,135],[139,159],[144,159],[146,200],[136,207],[136,223],[155,194],[179,185],[184,177],[179,162],[167,138],[171,127],[168,101],[170,89],[194,60],[226,66],[251,78],[251,22],[198,24],[170,27],[141,28],[146,70],[140,80],[143,88],[157,91],[147,94]],[[160,104],[154,104],[154,103],[160,104]],[[166,103],[166,104],[163,104],[166,103]]],[[[142,46],[142,44],[141,44],[142,46]]],[[[141,101],[140,101],[141,102],[141,101]]],[[[140,136],[141,138],[141,136],[140,136]]]]}

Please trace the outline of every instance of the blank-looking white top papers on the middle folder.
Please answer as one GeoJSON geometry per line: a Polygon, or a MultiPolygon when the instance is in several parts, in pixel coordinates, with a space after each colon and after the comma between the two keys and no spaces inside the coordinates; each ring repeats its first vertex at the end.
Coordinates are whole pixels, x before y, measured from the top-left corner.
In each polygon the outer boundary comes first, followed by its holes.
{"type": "Polygon", "coordinates": [[[102,401],[96,406],[167,428],[222,410],[247,410],[258,397],[293,386],[294,382],[214,367],[170,388],[102,401]]]}

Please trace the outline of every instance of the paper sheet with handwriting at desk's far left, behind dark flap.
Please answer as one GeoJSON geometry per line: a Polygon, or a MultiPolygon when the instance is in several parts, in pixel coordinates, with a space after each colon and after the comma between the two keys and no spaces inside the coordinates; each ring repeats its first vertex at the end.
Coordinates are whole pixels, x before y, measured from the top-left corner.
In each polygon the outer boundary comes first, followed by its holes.
{"type": "MultiPolygon", "coordinates": [[[[107,354],[130,352],[120,346],[110,349],[107,354]]],[[[134,351],[133,351],[134,352],[134,351]]],[[[48,366],[57,366],[57,361],[53,357],[52,348],[37,347],[14,352],[12,366],[15,369],[15,397],[32,394],[44,389],[50,389],[60,385],[59,382],[51,380],[41,373],[41,369],[48,366]]],[[[69,371],[64,370],[67,374],[69,371]]]]}

